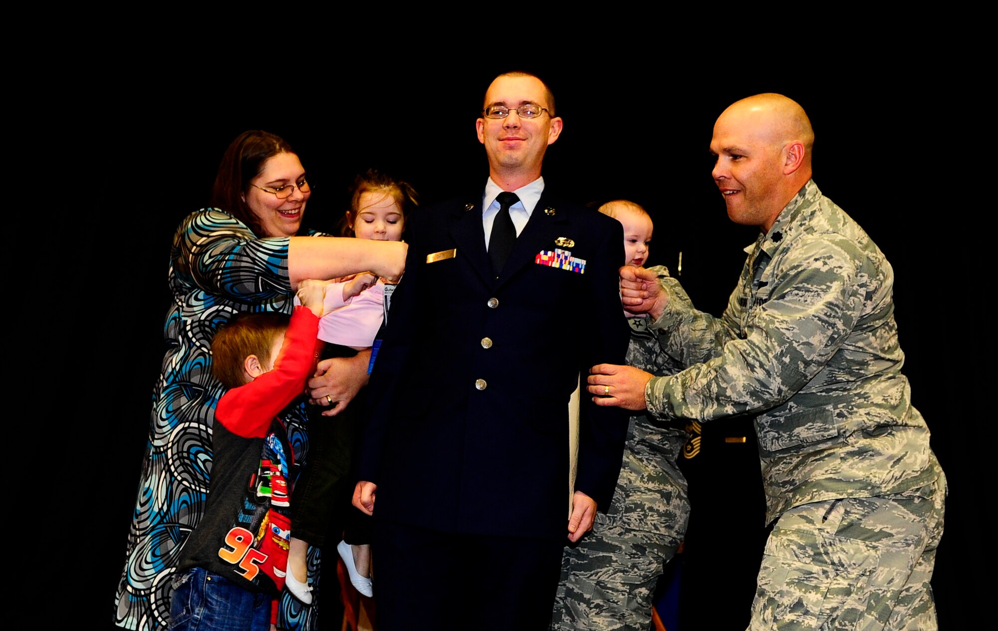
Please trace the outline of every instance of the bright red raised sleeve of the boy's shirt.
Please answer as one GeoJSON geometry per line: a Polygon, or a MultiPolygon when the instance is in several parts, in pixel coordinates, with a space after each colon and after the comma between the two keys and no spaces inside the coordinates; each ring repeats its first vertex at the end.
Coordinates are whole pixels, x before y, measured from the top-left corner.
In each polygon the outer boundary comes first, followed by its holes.
{"type": "Polygon", "coordinates": [[[216,405],[216,420],[245,438],[263,437],[273,417],[304,391],[315,360],[317,332],[318,317],[295,307],[273,369],[226,392],[216,405]]]}

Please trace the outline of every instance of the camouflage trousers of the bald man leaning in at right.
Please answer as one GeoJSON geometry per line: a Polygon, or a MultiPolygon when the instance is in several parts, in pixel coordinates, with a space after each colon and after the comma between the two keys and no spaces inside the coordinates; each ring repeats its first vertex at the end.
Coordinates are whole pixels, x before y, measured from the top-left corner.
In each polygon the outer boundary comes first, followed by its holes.
{"type": "Polygon", "coordinates": [[[946,478],[904,493],[803,504],[766,542],[749,631],[933,631],[946,478]]]}

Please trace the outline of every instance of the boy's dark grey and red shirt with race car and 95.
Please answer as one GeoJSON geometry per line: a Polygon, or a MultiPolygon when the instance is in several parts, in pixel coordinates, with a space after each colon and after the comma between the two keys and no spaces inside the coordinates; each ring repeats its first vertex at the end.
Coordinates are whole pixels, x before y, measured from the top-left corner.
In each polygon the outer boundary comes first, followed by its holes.
{"type": "Polygon", "coordinates": [[[295,308],[273,370],[219,400],[208,505],[180,570],[202,567],[252,592],[283,589],[294,456],[282,414],[302,396],[317,330],[318,318],[295,308]]]}

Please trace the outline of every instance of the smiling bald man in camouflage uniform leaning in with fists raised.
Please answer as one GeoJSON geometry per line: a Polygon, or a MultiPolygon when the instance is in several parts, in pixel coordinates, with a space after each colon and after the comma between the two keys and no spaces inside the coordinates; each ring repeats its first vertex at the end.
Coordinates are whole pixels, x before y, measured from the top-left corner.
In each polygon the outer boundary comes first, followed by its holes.
{"type": "Polygon", "coordinates": [[[686,370],[594,366],[603,404],[710,421],[754,414],[766,542],[752,603],[762,629],[936,629],[929,579],[945,477],[901,374],[893,270],[811,180],[813,132],[781,95],[718,119],[714,179],[760,234],[724,316],[673,300],[672,279],[621,271],[686,370]],[[671,346],[671,345],[672,346],[671,346]]]}

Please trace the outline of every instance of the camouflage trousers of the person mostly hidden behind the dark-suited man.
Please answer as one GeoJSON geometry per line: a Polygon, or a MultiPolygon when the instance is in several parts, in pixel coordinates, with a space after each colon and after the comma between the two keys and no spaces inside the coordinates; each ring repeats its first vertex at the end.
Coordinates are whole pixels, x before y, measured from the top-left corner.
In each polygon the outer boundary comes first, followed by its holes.
{"type": "MultiPolygon", "coordinates": [[[[689,516],[687,512],[686,516],[689,516]]],[[[597,513],[593,531],[562,555],[553,631],[647,631],[652,596],[679,536],[610,525],[597,513]]]]}

